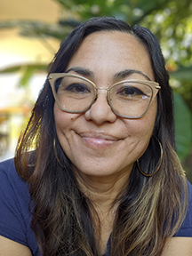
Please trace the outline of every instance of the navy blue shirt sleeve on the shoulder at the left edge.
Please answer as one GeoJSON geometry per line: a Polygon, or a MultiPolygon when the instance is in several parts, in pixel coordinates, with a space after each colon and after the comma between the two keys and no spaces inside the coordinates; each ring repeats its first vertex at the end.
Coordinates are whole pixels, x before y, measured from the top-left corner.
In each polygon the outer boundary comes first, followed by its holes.
{"type": "MultiPolygon", "coordinates": [[[[19,222],[24,222],[28,212],[30,196],[28,184],[21,180],[14,167],[13,159],[0,163],[0,225],[20,228],[19,222]]],[[[2,234],[1,234],[2,235],[2,234]]]]}

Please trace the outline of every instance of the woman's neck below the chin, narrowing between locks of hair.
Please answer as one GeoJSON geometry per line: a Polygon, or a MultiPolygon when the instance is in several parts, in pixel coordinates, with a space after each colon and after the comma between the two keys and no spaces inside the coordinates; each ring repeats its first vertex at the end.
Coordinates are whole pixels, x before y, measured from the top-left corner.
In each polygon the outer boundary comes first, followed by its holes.
{"type": "Polygon", "coordinates": [[[130,170],[108,176],[91,176],[78,172],[74,168],[79,188],[92,202],[92,225],[100,246],[100,255],[107,250],[108,238],[113,230],[116,209],[119,205],[117,196],[121,195],[129,182],[130,170]],[[95,214],[96,213],[96,214],[95,214]]]}

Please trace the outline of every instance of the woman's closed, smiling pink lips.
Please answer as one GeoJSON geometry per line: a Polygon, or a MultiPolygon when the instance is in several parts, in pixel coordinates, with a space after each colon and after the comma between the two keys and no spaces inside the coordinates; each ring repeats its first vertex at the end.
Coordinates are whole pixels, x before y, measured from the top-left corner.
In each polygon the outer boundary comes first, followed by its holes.
{"type": "Polygon", "coordinates": [[[119,140],[106,132],[78,132],[77,134],[89,148],[108,148],[119,140]]]}

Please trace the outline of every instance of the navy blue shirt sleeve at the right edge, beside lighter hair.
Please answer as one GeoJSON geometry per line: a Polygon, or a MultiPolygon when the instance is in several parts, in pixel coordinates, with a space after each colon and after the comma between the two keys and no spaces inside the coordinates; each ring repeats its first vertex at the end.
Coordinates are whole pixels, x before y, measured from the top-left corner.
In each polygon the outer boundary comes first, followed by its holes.
{"type": "Polygon", "coordinates": [[[192,237],[192,185],[188,182],[188,212],[180,229],[174,236],[192,237]]]}

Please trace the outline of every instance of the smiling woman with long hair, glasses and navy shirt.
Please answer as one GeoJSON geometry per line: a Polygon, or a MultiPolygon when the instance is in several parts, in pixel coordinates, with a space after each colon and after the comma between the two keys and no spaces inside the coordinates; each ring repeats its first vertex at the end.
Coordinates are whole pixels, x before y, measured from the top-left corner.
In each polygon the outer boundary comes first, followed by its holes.
{"type": "Polygon", "coordinates": [[[114,18],[75,28],[21,135],[17,172],[1,164],[0,254],[192,255],[168,80],[148,29],[114,18]]]}

